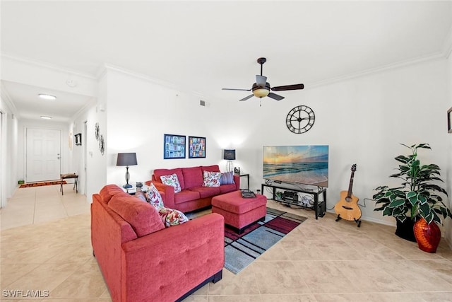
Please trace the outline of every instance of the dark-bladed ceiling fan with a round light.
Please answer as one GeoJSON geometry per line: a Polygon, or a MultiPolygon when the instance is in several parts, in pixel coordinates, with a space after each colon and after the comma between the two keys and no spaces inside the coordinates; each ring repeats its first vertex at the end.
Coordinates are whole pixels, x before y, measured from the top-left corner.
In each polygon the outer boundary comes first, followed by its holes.
{"type": "Polygon", "coordinates": [[[267,82],[267,77],[262,75],[262,65],[267,62],[266,58],[258,58],[258,64],[261,64],[261,75],[256,75],[256,83],[253,84],[251,89],[239,89],[239,88],[222,88],[225,91],[253,91],[253,94],[242,98],[242,100],[248,100],[252,98],[253,95],[256,98],[264,98],[268,96],[268,98],[273,98],[275,100],[283,100],[283,96],[278,95],[276,93],[272,93],[271,91],[293,91],[298,89],[303,89],[303,84],[294,84],[294,85],[285,85],[285,86],[276,86],[270,87],[270,83],[267,82]]]}

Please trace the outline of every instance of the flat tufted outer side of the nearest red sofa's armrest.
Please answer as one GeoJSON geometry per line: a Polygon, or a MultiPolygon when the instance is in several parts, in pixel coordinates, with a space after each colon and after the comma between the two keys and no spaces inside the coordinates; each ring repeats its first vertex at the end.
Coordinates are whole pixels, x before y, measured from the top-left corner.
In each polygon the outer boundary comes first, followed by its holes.
{"type": "Polygon", "coordinates": [[[121,245],[123,301],[175,301],[222,270],[224,218],[216,213],[121,245]]]}

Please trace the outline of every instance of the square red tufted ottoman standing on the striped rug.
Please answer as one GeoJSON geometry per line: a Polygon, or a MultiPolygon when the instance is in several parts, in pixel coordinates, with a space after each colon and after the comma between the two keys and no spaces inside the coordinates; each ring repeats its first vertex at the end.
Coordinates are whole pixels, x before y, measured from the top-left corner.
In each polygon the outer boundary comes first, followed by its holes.
{"type": "Polygon", "coordinates": [[[267,197],[243,198],[240,191],[218,195],[212,199],[212,212],[225,217],[225,224],[241,234],[250,224],[266,218],[267,197]]]}

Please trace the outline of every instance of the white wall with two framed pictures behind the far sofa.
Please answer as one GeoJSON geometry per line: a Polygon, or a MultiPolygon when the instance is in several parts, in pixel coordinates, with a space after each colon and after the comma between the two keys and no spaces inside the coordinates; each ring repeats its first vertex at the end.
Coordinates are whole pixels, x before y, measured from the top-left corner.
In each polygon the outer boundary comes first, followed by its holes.
{"type": "MultiPolygon", "coordinates": [[[[131,166],[129,183],[150,180],[155,168],[220,163],[220,149],[209,125],[213,110],[199,99],[120,71],[108,70],[107,182],[125,184],[124,166],[117,153],[136,152],[138,165],[131,166]],[[163,159],[163,134],[206,137],[206,158],[163,159]]],[[[216,114],[215,114],[216,115],[216,114]]],[[[103,125],[101,125],[101,132],[103,125]]]]}

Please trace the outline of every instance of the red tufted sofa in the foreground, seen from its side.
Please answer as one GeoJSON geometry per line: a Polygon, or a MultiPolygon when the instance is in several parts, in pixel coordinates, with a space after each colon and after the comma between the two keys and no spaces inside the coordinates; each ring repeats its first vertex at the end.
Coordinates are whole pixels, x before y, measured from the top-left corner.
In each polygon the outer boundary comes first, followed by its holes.
{"type": "Polygon", "coordinates": [[[114,302],[180,301],[222,278],[220,214],[165,228],[152,205],[117,185],[93,194],[91,243],[114,302]]]}

